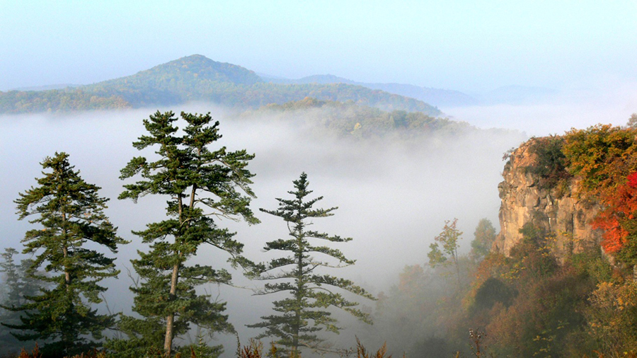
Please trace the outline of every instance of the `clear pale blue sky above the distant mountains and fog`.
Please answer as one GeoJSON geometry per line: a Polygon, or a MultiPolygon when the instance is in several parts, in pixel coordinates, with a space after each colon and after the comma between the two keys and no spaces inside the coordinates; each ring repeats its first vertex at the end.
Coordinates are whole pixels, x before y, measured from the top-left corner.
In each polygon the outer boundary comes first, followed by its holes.
{"type": "Polygon", "coordinates": [[[637,1],[0,0],[0,90],[203,54],[460,91],[637,83],[637,1]]]}

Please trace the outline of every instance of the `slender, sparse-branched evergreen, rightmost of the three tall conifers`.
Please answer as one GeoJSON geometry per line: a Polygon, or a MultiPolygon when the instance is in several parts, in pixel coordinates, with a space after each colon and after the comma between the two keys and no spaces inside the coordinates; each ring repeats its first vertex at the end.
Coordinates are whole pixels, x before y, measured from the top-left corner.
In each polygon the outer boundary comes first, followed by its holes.
{"type": "Polygon", "coordinates": [[[261,317],[260,323],[248,325],[251,328],[265,328],[265,332],[259,337],[277,337],[277,345],[282,345],[291,357],[297,357],[299,347],[320,348],[323,339],[316,333],[325,329],[338,333],[340,328],[335,318],[326,308],[333,306],[342,308],[366,323],[372,323],[369,315],[356,308],[357,302],[349,301],[333,288],[343,289],[367,299],[374,299],[365,289],[356,286],[348,279],[342,279],[332,275],[319,275],[315,272],[317,267],[343,267],[353,265],[354,260],[348,260],[340,250],[328,246],[315,246],[310,243],[310,238],[344,243],[351,238],[329,236],[327,233],[309,231],[306,226],[312,224],[311,219],[332,216],[337,209],[314,209],[313,206],[323,197],[307,200],[311,194],[307,190],[308,181],[305,173],[299,180],[294,180],[296,190],[289,192],[293,199],[278,199],[279,209],[265,210],[262,212],[279,216],[287,223],[289,229],[288,239],[278,239],[266,244],[265,250],[281,250],[289,252],[288,256],[275,258],[267,266],[263,267],[260,279],[275,279],[282,282],[265,284],[265,289],[258,294],[276,294],[287,291],[289,296],[280,301],[274,301],[276,315],[261,317]],[[317,260],[313,253],[328,255],[338,260],[338,265],[317,260]]]}

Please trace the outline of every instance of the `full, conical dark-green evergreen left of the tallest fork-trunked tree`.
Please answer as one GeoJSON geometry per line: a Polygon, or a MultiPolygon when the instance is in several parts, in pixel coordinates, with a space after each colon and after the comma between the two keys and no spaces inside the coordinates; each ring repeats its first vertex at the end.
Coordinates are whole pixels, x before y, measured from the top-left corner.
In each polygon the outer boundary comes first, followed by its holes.
{"type": "Polygon", "coordinates": [[[23,311],[21,324],[6,324],[23,330],[13,333],[19,340],[47,342],[42,352],[52,357],[96,347],[98,343],[87,336],[99,340],[113,324],[113,316],[99,315],[91,304],[100,303],[99,295],[106,290],[98,282],[117,276],[115,259],[86,244],[91,241],[116,253],[117,244],[124,243],[103,213],[108,199],[98,196],[100,187],[86,183],[68,158],[65,153],[45,158],[42,167],[50,172],[42,172],[39,186],[16,200],[19,218],[37,216],[30,223],[41,226],[27,231],[23,239],[23,253],[37,255],[28,275],[50,287],[26,296],[27,303],[13,308],[23,311]],[[40,267],[48,275],[38,273],[40,267]]]}

